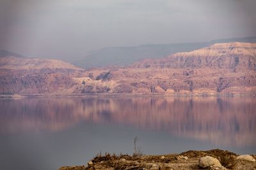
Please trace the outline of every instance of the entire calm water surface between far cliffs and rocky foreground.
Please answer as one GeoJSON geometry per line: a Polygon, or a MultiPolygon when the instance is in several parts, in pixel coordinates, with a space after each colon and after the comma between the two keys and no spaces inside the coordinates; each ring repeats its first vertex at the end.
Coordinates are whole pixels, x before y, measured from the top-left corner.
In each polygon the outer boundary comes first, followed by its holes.
{"type": "Polygon", "coordinates": [[[97,153],[256,153],[255,97],[0,100],[1,169],[58,169],[97,153]]]}

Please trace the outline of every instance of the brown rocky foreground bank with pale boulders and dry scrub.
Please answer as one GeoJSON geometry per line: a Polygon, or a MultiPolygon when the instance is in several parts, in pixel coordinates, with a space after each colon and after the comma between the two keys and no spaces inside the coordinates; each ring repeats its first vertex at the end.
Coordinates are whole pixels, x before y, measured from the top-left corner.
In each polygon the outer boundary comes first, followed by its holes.
{"type": "Polygon", "coordinates": [[[84,166],[65,166],[59,170],[84,169],[256,169],[256,155],[237,155],[223,150],[194,151],[168,155],[97,155],[84,166]]]}

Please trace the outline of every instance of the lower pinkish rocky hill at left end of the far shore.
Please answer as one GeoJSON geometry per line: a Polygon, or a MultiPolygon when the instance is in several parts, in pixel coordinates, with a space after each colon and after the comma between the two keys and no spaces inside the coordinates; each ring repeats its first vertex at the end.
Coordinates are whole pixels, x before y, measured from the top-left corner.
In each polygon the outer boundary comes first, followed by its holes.
{"type": "Polygon", "coordinates": [[[45,94],[69,89],[83,69],[61,60],[30,59],[4,52],[0,57],[0,93],[45,94]]]}

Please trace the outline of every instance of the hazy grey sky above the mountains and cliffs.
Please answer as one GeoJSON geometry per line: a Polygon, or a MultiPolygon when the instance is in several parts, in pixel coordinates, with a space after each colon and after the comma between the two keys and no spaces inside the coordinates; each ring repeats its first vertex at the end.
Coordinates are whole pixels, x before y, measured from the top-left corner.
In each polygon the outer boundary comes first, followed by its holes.
{"type": "Polygon", "coordinates": [[[0,49],[81,57],[106,46],[256,36],[255,0],[0,0],[0,49]]]}

